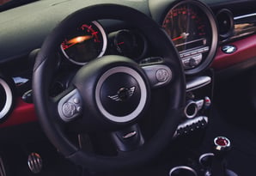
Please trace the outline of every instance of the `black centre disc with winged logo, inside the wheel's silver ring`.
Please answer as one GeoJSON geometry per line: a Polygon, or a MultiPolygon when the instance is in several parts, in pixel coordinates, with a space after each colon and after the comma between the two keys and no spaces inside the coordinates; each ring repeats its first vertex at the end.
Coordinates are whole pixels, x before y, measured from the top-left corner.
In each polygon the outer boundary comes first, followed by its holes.
{"type": "Polygon", "coordinates": [[[101,88],[101,103],[114,116],[126,116],[138,106],[141,89],[137,81],[125,73],[109,76],[101,88]]]}

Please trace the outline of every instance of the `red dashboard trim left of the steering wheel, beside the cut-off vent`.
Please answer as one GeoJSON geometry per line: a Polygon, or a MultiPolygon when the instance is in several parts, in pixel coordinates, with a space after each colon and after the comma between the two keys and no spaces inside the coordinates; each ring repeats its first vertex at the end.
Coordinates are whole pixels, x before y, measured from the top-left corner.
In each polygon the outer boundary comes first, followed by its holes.
{"type": "Polygon", "coordinates": [[[23,100],[16,100],[14,111],[9,115],[3,124],[0,124],[0,128],[13,126],[17,124],[25,124],[28,122],[34,122],[37,120],[37,116],[34,109],[34,104],[27,104],[23,100]]]}

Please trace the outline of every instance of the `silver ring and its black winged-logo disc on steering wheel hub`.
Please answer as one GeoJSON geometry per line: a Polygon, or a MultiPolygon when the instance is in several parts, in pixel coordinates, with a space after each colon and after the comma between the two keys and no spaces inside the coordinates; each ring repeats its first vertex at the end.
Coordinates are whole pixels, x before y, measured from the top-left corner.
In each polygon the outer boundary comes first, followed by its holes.
{"type": "Polygon", "coordinates": [[[118,66],[101,76],[95,97],[99,110],[106,118],[114,122],[129,122],[143,111],[147,88],[136,70],[118,66]]]}

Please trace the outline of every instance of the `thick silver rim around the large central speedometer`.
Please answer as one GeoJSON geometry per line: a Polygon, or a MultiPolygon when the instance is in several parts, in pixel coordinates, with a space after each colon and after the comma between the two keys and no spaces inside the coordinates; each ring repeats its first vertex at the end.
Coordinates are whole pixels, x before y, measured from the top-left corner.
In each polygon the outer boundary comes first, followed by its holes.
{"type": "MultiPolygon", "coordinates": [[[[215,58],[217,45],[218,45],[218,27],[216,26],[215,15],[211,11],[211,9],[205,3],[199,2],[198,0],[183,0],[183,1],[178,1],[177,3],[176,2],[172,3],[171,6],[166,10],[165,14],[163,15],[161,24],[163,25],[168,14],[171,13],[172,10],[184,4],[192,4],[194,6],[197,6],[198,9],[202,10],[202,12],[207,16],[207,19],[210,23],[211,33],[212,33],[210,49],[207,56],[202,58],[202,61],[201,61],[202,63],[198,64],[192,69],[185,70],[186,75],[195,75],[202,72],[203,70],[206,70],[212,63],[213,59],[215,58]]],[[[182,51],[182,52],[185,52],[185,51],[182,51]]]]}

